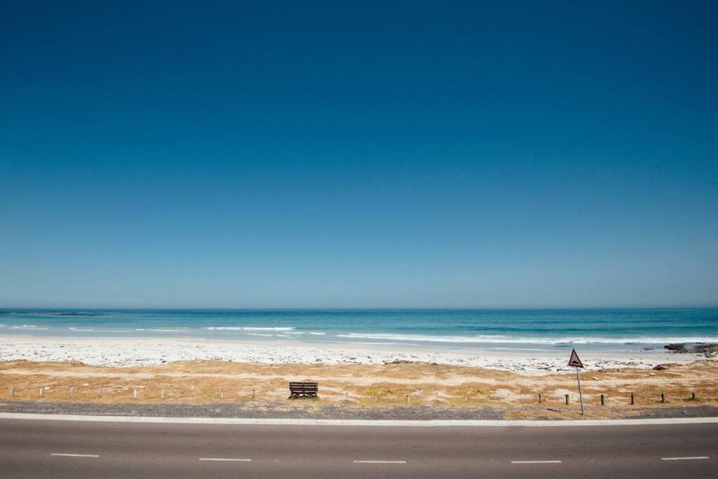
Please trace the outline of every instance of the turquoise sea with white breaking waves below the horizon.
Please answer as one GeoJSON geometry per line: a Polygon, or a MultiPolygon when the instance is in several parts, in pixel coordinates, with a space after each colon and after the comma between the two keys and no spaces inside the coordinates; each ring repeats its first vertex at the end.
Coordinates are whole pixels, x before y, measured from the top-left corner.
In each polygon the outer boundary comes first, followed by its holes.
{"type": "Polygon", "coordinates": [[[1,310],[0,335],[194,337],[434,347],[631,350],[718,342],[718,308],[1,310]]]}

